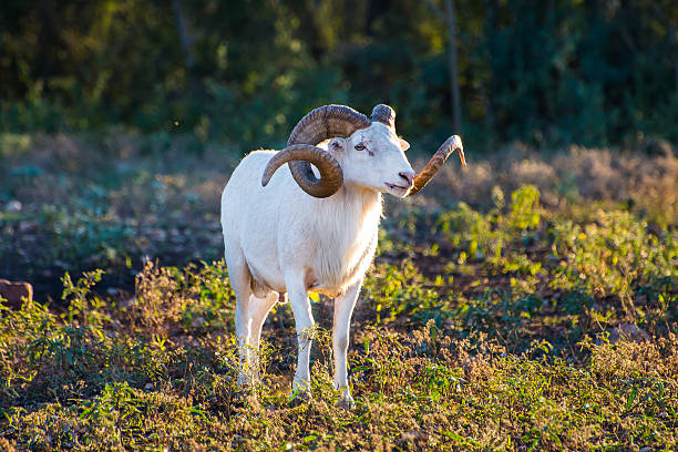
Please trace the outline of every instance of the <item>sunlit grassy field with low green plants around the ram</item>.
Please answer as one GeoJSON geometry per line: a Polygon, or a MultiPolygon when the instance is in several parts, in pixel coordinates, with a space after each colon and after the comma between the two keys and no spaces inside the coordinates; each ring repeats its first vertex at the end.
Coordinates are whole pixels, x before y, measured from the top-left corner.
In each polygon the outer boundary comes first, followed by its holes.
{"type": "Polygon", "coordinates": [[[469,168],[387,198],[347,412],[322,297],[314,399],[288,403],[287,306],[264,383],[235,386],[235,152],[0,135],[0,277],[35,286],[0,305],[0,450],[677,450],[675,151],[468,147],[469,168]]]}

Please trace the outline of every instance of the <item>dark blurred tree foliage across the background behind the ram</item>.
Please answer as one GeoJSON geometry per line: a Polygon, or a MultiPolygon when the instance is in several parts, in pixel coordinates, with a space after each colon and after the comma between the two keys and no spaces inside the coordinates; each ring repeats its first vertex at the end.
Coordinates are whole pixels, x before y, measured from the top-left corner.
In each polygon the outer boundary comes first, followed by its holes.
{"type": "MultiPolygon", "coordinates": [[[[400,131],[451,131],[445,2],[6,0],[0,130],[123,124],[279,144],[328,102],[393,104],[400,131]]],[[[606,144],[678,138],[678,4],[456,0],[462,132],[606,144]]],[[[455,131],[459,132],[459,131],[455,131]]]]}

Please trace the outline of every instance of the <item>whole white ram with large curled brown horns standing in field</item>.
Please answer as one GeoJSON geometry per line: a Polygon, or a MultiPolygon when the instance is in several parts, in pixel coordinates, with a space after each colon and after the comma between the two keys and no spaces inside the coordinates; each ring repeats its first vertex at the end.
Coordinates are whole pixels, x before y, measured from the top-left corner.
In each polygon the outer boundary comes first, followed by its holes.
{"type": "Polygon", "coordinates": [[[394,119],[383,104],[374,107],[371,121],[348,106],[326,105],[297,124],[288,147],[253,152],[235,168],[222,195],[222,227],[236,296],[240,384],[258,378],[261,326],[287,294],[299,341],[292,394],[309,392],[314,318],[307,292],[315,291],[335,298],[335,386],[342,390],[338,405],[353,405],[347,376],[349,327],[377,247],[381,193],[417,193],[454,150],[465,164],[461,140],[453,135],[415,175],[394,119]],[[328,138],[327,148],[318,147],[328,138]],[[289,168],[276,172],[285,163],[289,168]]]}

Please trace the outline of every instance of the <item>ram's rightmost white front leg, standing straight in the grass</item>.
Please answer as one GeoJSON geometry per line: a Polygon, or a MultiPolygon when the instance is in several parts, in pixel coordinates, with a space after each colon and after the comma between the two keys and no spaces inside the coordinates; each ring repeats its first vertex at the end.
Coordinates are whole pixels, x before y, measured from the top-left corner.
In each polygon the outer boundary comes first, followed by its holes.
{"type": "Polygon", "coordinates": [[[342,390],[341,398],[337,402],[338,408],[352,409],[356,403],[351,397],[348,386],[347,352],[349,345],[349,331],[351,327],[351,316],[362,279],[352,286],[345,295],[335,300],[335,325],[332,329],[332,347],[335,351],[335,388],[342,390]]]}

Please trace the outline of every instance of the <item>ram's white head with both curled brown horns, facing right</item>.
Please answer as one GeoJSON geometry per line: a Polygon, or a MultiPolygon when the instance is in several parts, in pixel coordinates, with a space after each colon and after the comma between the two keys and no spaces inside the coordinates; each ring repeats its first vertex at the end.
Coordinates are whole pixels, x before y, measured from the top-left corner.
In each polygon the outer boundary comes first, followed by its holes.
{"type": "Polygon", "coordinates": [[[403,197],[423,188],[455,150],[466,164],[458,135],[450,136],[419,174],[404,155],[408,147],[396,134],[396,112],[390,106],[374,106],[370,121],[349,106],[325,105],[299,121],[287,147],[268,162],[261,184],[266,186],[276,170],[288,163],[297,184],[315,197],[333,195],[345,182],[403,197]],[[328,138],[327,151],[318,147],[328,138]]]}

